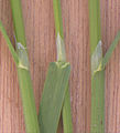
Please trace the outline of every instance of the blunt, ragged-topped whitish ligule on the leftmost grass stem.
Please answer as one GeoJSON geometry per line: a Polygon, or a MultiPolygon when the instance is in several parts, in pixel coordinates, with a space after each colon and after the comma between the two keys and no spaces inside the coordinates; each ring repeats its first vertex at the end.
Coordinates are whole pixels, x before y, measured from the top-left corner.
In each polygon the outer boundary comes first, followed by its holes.
{"type": "Polygon", "coordinates": [[[24,48],[20,42],[17,43],[18,55],[19,55],[19,68],[29,70],[29,59],[26,48],[24,48]]]}

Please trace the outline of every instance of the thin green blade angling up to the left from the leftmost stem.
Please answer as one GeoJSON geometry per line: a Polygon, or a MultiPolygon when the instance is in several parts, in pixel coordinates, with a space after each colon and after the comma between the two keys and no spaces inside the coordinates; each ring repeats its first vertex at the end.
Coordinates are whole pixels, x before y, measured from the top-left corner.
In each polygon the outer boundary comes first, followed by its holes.
{"type": "Polygon", "coordinates": [[[4,37],[4,39],[7,41],[7,44],[9,47],[9,50],[13,57],[15,64],[18,65],[19,64],[19,57],[18,57],[17,52],[14,51],[14,48],[13,48],[13,45],[12,45],[12,43],[11,43],[7,32],[6,32],[6,29],[3,28],[1,22],[0,22],[0,31],[2,32],[2,35],[4,37]]]}

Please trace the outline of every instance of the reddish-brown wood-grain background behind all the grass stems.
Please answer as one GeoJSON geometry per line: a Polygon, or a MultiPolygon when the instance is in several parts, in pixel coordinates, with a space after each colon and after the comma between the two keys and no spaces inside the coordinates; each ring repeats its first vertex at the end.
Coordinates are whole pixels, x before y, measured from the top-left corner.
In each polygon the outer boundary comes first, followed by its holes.
{"type": "MultiPolygon", "coordinates": [[[[39,111],[45,74],[56,59],[53,0],[21,0],[39,111]]],[[[70,92],[74,133],[89,133],[90,60],[88,0],[61,0],[67,60],[72,64],[70,92]]],[[[100,0],[103,52],[120,29],[120,0],[100,0]]],[[[10,0],[0,0],[0,20],[13,42],[10,0]]],[[[120,133],[120,45],[106,68],[106,133],[120,133]]],[[[0,133],[24,133],[15,65],[0,33],[0,133]]]]}

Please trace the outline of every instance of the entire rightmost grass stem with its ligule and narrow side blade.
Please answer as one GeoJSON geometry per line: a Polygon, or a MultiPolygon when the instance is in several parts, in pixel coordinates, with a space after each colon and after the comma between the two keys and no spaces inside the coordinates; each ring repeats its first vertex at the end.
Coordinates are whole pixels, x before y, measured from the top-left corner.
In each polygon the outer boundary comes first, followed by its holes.
{"type": "Polygon", "coordinates": [[[100,1],[89,0],[89,33],[91,59],[91,121],[90,133],[105,133],[105,68],[118,41],[120,32],[102,55],[100,1]]]}

